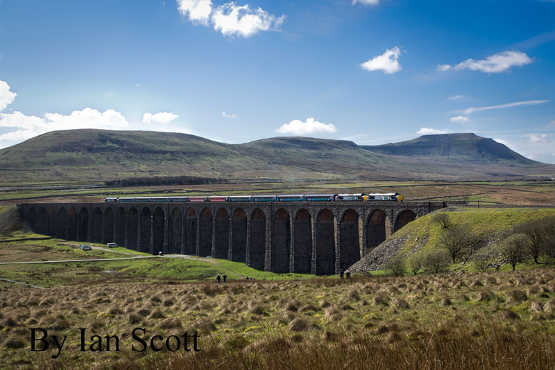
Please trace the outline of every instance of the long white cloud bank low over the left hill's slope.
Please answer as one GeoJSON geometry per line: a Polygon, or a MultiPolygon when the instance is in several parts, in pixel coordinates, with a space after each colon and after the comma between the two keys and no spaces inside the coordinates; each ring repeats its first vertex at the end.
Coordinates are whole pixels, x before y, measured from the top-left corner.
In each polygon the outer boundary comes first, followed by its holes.
{"type": "Polygon", "coordinates": [[[74,130],[80,128],[101,128],[121,130],[129,126],[123,114],[114,109],[99,112],[85,108],[69,115],[46,113],[44,118],[26,116],[22,112],[0,113],[0,127],[12,127],[15,131],[0,135],[0,141],[22,141],[31,137],[56,130],[74,130]]]}

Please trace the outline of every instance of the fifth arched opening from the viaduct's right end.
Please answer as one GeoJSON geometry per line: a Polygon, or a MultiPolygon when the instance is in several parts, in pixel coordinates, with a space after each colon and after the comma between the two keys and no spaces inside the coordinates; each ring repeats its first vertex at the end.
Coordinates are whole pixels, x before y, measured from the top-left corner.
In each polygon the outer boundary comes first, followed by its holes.
{"type": "Polygon", "coordinates": [[[294,222],[293,271],[310,273],[312,263],[312,216],[307,209],[303,208],[297,212],[294,222]]]}

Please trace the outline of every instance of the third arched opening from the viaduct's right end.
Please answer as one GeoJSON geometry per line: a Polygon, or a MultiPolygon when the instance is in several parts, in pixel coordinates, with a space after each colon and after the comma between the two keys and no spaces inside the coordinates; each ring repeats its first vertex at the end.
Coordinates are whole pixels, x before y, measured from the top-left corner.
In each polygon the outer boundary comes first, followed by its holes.
{"type": "Polygon", "coordinates": [[[339,224],[340,247],[339,269],[346,270],[360,260],[359,213],[348,209],[343,213],[339,224]]]}

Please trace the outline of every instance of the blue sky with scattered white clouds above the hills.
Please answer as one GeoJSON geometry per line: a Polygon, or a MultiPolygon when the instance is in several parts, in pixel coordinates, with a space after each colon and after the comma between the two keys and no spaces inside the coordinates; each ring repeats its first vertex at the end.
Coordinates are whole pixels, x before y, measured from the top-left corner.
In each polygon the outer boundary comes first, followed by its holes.
{"type": "Polygon", "coordinates": [[[75,128],[555,163],[555,0],[0,0],[0,148],[75,128]]]}

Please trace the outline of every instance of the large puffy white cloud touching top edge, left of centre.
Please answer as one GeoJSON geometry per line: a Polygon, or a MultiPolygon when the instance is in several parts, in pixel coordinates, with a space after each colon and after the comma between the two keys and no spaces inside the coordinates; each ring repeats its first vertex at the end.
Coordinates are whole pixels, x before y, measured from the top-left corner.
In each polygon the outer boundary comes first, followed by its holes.
{"type": "Polygon", "coordinates": [[[225,36],[250,37],[266,30],[278,30],[285,16],[276,17],[262,8],[238,6],[234,1],[214,6],[211,0],[178,0],[178,11],[195,24],[210,26],[225,36]]]}

